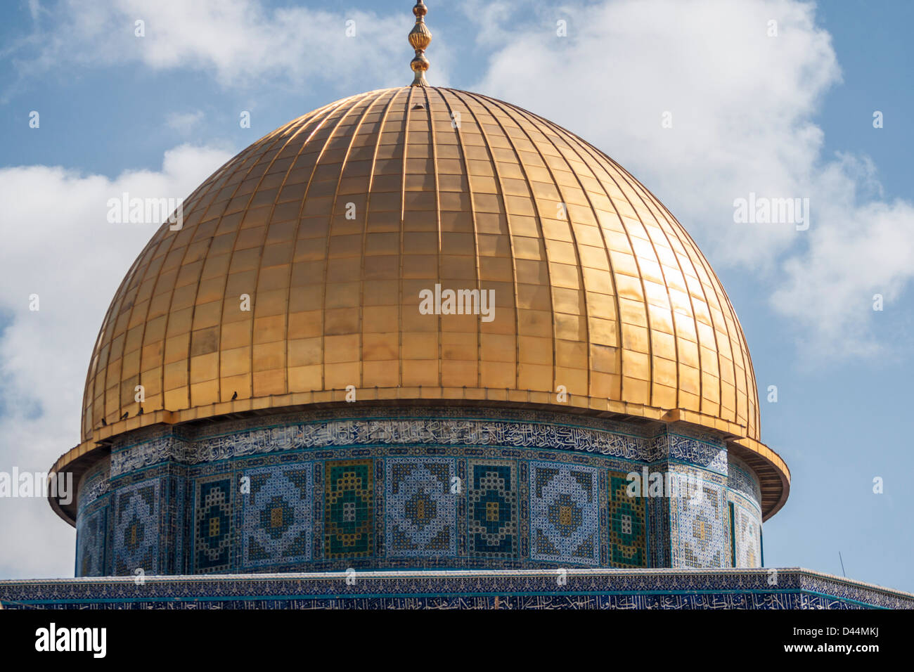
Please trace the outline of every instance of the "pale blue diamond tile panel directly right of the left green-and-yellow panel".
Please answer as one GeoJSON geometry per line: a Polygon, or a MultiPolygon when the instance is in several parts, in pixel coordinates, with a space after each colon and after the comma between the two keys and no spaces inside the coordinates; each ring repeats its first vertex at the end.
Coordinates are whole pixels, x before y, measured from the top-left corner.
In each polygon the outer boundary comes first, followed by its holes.
{"type": "Polygon", "coordinates": [[[397,457],[386,465],[385,543],[389,557],[452,556],[457,552],[454,461],[397,457]]]}

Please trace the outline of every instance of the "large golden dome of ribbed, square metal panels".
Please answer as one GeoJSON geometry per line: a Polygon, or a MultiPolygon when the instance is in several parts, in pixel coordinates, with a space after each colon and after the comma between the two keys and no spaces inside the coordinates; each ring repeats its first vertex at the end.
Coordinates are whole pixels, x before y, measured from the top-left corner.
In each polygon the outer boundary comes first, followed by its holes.
{"type": "Polygon", "coordinates": [[[483,95],[370,91],[223,165],[114,296],[82,438],[347,386],[688,421],[759,457],[763,489],[786,498],[786,466],[758,443],[746,338],[695,242],[607,155],[483,95]],[[424,315],[436,284],[494,290],[494,319],[424,315]]]}

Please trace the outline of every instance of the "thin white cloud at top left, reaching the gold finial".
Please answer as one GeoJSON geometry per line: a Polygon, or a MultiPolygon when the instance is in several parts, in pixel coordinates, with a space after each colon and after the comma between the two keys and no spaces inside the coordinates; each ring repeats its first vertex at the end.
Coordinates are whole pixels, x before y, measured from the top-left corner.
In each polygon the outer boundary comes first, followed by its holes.
{"type": "MultiPolygon", "coordinates": [[[[224,86],[270,79],[309,80],[344,91],[409,83],[407,33],[412,18],[328,5],[268,8],[260,0],[61,0],[55,20],[23,47],[27,68],[62,62],[112,65],[139,61],[152,69],[210,72],[224,86]],[[135,37],[143,21],[144,37],[135,37]],[[350,23],[351,22],[351,23],[350,23]],[[347,36],[347,30],[349,35],[347,36]]],[[[436,82],[446,80],[446,48],[436,49],[436,82]]]]}

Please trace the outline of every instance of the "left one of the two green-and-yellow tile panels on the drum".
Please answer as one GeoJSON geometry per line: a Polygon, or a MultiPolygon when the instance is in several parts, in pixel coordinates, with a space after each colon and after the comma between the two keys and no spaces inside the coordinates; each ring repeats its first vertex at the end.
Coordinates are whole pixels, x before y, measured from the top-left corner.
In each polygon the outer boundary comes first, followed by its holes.
{"type": "Polygon", "coordinates": [[[328,462],[324,485],[324,554],[368,558],[374,554],[372,460],[328,462]]]}

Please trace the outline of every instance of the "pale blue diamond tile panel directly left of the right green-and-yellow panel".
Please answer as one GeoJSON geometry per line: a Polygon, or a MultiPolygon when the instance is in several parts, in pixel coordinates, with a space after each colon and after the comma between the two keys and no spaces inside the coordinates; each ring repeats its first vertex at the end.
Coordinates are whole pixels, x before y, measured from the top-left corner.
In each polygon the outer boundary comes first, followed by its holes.
{"type": "Polygon", "coordinates": [[[599,497],[595,468],[531,463],[531,557],[600,564],[599,497]]]}

